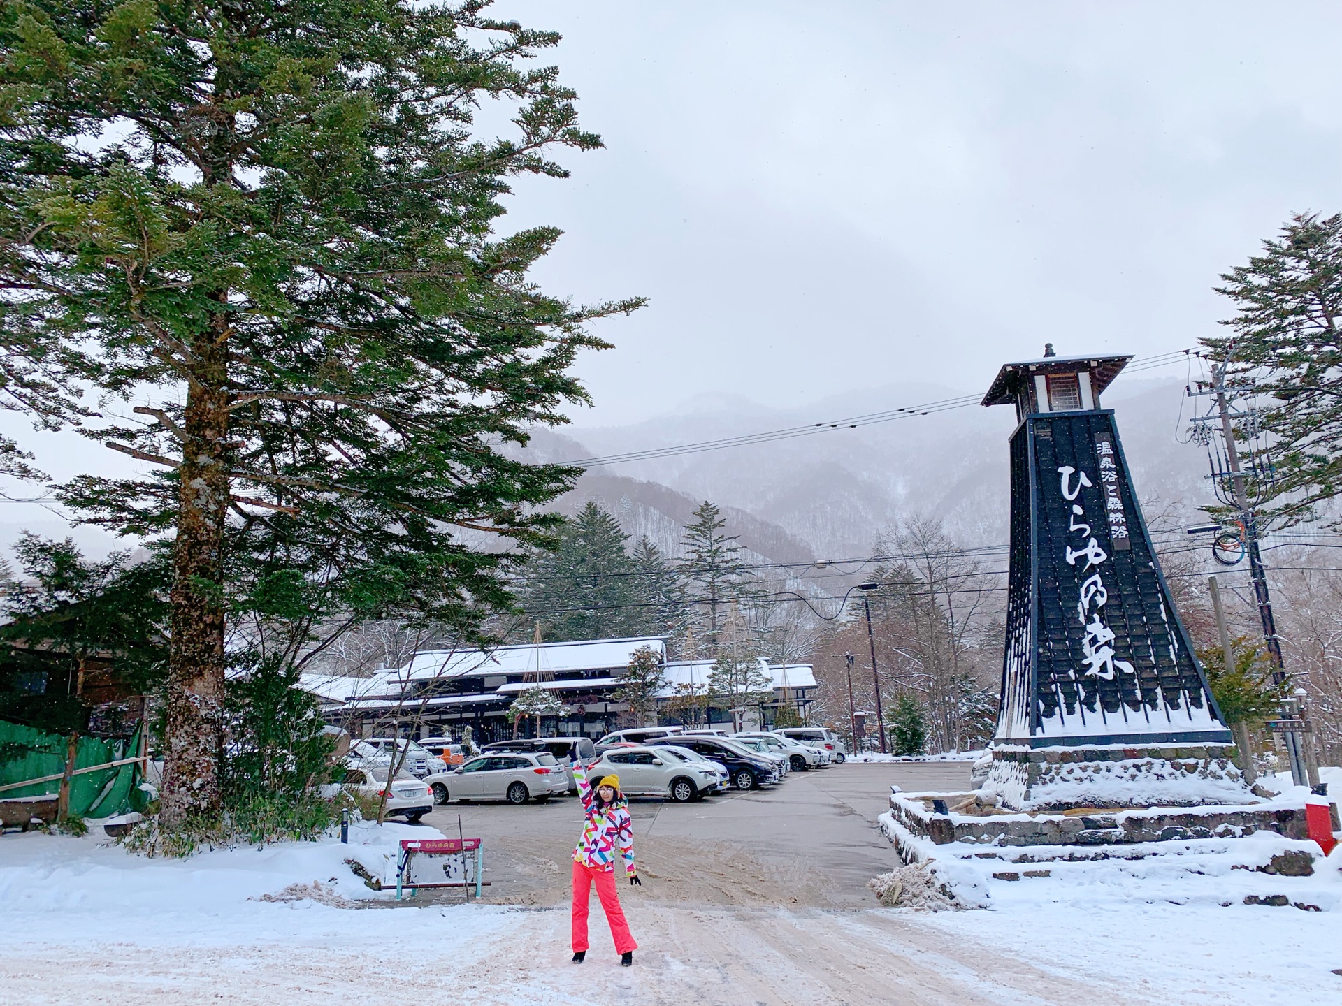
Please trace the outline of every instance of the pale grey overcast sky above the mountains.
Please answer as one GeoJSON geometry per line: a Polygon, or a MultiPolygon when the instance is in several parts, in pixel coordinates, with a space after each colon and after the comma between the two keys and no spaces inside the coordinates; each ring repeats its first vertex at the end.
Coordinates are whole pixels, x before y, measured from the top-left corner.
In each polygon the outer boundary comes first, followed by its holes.
{"type": "Polygon", "coordinates": [[[552,292],[651,299],[599,326],[616,349],[581,364],[580,425],[717,392],[978,390],[1045,341],[1182,349],[1227,314],[1219,272],[1291,212],[1342,211],[1338,4],[495,11],[564,34],[549,59],[607,144],[505,225],[565,229],[552,292]]]}

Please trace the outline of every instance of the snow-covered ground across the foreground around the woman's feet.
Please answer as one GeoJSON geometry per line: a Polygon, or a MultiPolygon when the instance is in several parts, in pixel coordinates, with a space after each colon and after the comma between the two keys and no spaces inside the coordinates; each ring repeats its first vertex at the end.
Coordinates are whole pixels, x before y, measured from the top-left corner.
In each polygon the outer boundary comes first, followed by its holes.
{"type": "MultiPolygon", "coordinates": [[[[828,789],[843,779],[817,778],[828,789]]],[[[752,799],[778,806],[777,794],[752,799]]],[[[1306,912],[1239,897],[1263,881],[1335,896],[1342,852],[1300,879],[1189,873],[1177,857],[1041,864],[1049,877],[988,880],[988,911],[935,915],[705,907],[660,896],[664,881],[652,880],[624,895],[641,943],[624,970],[596,908],[590,959],[574,967],[566,905],[395,905],[344,862],[385,869],[407,836],[428,829],[365,828],[349,846],[187,861],[127,856],[97,834],[3,836],[0,1003],[1342,1002],[1331,972],[1342,968],[1342,905],[1306,912]],[[315,901],[259,900],[313,884],[315,901]]]]}

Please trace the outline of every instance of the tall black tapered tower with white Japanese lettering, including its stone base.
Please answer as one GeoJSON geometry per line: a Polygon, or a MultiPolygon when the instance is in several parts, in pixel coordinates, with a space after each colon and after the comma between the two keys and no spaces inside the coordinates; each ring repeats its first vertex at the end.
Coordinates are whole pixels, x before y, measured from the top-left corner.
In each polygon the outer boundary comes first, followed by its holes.
{"type": "Polygon", "coordinates": [[[1099,396],[1131,357],[1008,364],[1015,405],[1001,710],[984,791],[1009,807],[1252,799],[1170,600],[1099,396]]]}

